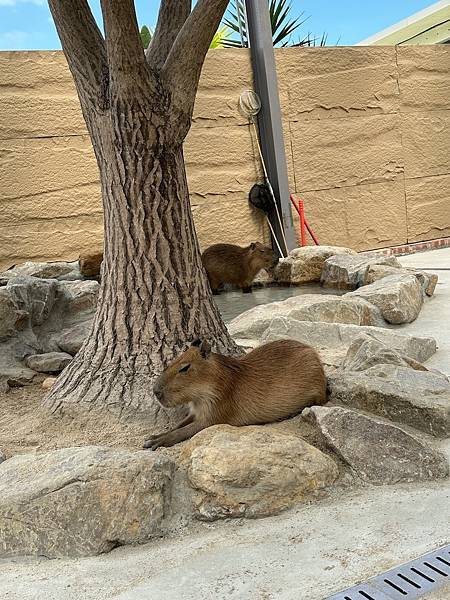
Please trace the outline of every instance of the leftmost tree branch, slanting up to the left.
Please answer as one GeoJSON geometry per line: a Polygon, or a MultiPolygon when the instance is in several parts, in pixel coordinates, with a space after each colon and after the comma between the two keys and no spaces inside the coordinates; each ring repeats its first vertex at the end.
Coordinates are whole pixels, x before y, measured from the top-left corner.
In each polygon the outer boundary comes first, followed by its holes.
{"type": "MultiPolygon", "coordinates": [[[[106,110],[108,61],[105,41],[87,0],[49,0],[48,3],[82,108],[85,104],[106,110]]],[[[86,118],[86,112],[83,112],[86,118]]]]}

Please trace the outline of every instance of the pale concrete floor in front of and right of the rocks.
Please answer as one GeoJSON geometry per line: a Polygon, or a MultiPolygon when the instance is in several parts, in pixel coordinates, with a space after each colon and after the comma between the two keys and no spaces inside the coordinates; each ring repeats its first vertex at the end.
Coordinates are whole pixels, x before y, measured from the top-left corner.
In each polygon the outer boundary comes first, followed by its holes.
{"type": "MultiPolygon", "coordinates": [[[[450,249],[402,257],[450,267],[450,249]]],[[[430,366],[450,374],[450,271],[419,319],[430,366]]],[[[450,456],[450,441],[442,444],[450,456]]],[[[0,562],[1,600],[322,600],[450,541],[450,480],[335,490],[328,499],[255,521],[199,524],[137,548],[78,560],[0,562]]],[[[450,598],[450,589],[429,595],[450,598]]]]}

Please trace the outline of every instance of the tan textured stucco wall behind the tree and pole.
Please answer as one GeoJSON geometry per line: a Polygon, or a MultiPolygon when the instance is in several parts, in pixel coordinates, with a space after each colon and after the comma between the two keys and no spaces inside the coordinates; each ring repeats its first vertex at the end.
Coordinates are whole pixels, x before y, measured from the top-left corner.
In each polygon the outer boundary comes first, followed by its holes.
{"type": "MultiPolygon", "coordinates": [[[[291,189],[321,243],[378,248],[450,235],[450,47],[277,50],[291,189]]],[[[0,53],[0,268],[101,244],[98,173],[60,52],[0,53]]],[[[237,110],[246,51],[208,55],[185,148],[200,243],[267,241],[237,110]]]]}

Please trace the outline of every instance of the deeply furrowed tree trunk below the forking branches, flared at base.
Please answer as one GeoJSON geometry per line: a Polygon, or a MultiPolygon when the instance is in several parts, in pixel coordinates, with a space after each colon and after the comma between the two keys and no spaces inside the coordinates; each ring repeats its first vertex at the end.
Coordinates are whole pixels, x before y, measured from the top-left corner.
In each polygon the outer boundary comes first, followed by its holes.
{"type": "Polygon", "coordinates": [[[78,403],[139,414],[161,428],[172,415],[152,384],[167,363],[196,338],[220,351],[236,346],[202,267],[182,145],[148,143],[168,136],[129,112],[120,130],[104,128],[96,148],[105,220],[97,313],[46,402],[52,411],[78,403]]]}

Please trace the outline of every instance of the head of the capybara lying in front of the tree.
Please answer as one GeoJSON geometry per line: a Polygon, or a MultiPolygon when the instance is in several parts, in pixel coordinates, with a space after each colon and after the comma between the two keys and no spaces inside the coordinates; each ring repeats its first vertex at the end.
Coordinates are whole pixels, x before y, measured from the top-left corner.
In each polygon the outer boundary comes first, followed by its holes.
{"type": "Polygon", "coordinates": [[[196,340],[168,365],[153,386],[153,393],[165,407],[188,404],[211,390],[214,366],[211,346],[196,340]]]}

